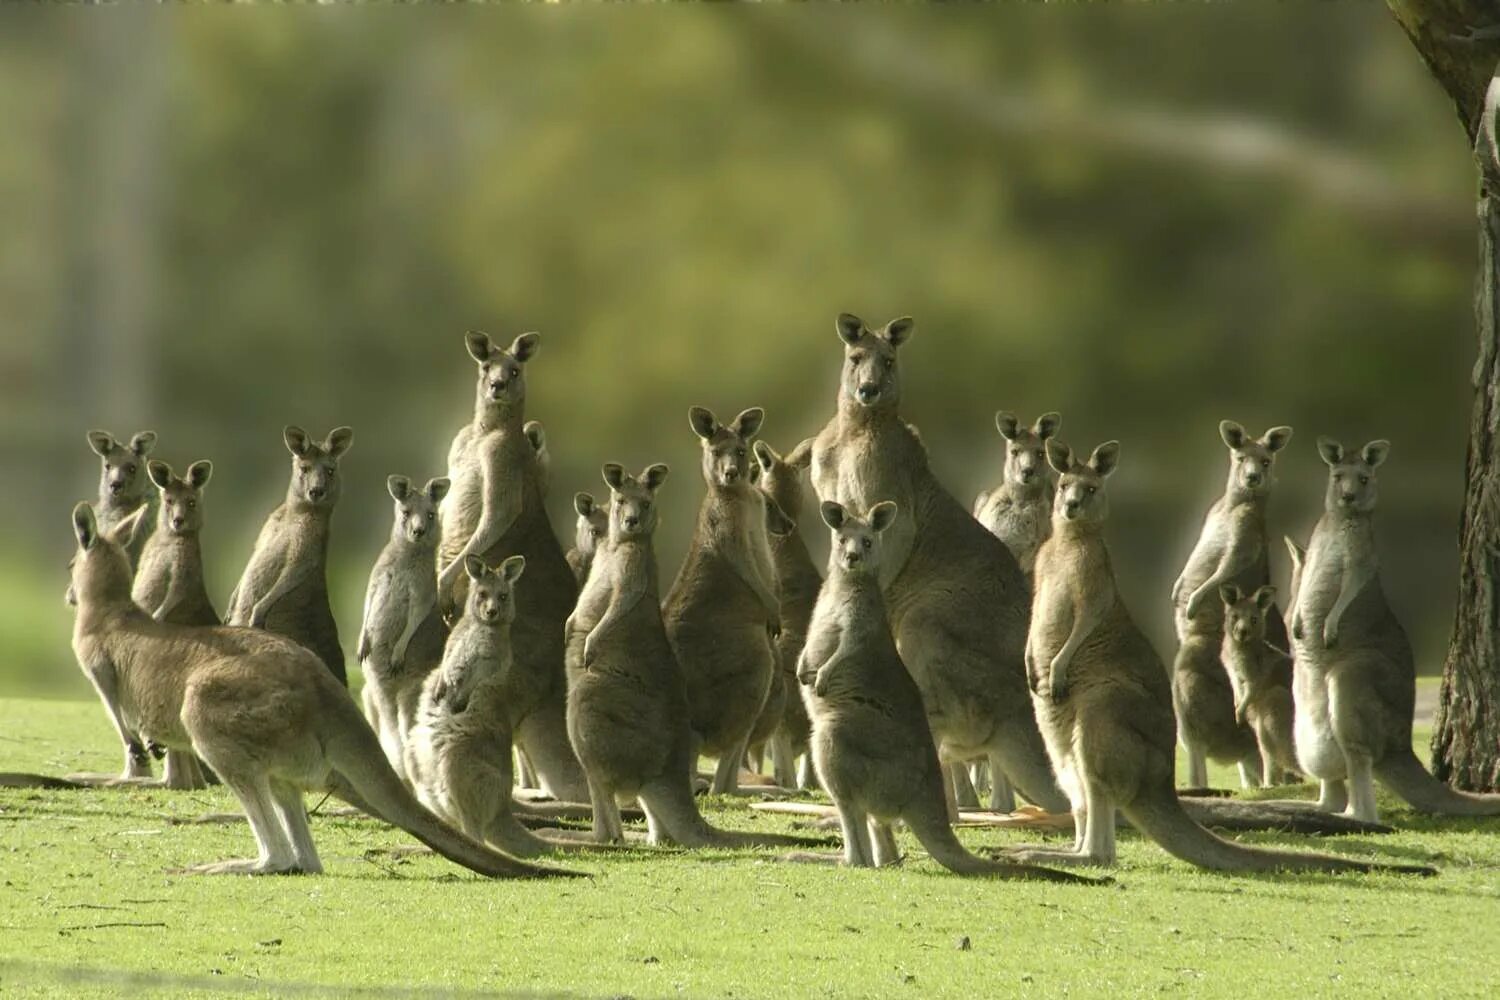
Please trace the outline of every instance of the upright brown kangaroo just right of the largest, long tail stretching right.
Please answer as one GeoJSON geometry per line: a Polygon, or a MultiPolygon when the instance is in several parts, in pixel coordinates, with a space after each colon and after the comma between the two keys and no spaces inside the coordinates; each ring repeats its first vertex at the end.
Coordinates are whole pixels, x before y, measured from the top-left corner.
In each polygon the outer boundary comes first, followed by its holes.
{"type": "Polygon", "coordinates": [[[1407,871],[1330,855],[1245,847],[1215,837],[1184,811],[1173,789],[1176,724],[1167,672],[1114,586],[1104,544],[1119,442],[1088,462],[1053,439],[1058,471],[1052,537],[1036,553],[1036,595],[1026,667],[1036,718],[1072,801],[1071,850],[1022,849],[1022,861],[1114,864],[1114,811],[1174,858],[1226,871],[1407,871]]]}

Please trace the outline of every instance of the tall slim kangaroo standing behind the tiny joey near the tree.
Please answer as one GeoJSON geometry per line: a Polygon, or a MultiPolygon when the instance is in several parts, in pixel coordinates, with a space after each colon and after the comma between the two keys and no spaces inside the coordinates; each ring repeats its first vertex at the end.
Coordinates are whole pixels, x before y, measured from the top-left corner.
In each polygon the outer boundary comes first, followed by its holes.
{"type": "MultiPolygon", "coordinates": [[[[1260,753],[1256,735],[1234,718],[1234,691],[1220,658],[1224,642],[1224,603],[1218,588],[1233,583],[1242,592],[1270,583],[1266,505],[1276,453],[1292,441],[1292,427],[1272,427],[1258,439],[1233,420],[1220,423],[1228,448],[1228,483],[1209,508],[1198,543],[1172,588],[1178,628],[1178,658],[1172,664],[1172,694],[1178,730],[1188,753],[1188,784],[1208,784],[1208,760],[1239,765],[1240,784],[1258,784],[1260,753]]],[[[1268,639],[1287,645],[1286,625],[1275,606],[1266,610],[1268,639]]]]}

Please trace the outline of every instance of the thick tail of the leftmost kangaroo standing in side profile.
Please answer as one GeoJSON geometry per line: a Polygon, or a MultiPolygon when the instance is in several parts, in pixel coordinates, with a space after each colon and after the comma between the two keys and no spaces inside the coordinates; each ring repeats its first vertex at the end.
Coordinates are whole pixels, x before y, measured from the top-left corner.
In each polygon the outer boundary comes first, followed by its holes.
{"type": "Polygon", "coordinates": [[[540,879],[585,873],[531,865],[476,844],[429,813],[386,760],[374,730],[354,702],[333,702],[326,753],[333,765],[332,792],[370,816],[399,826],[448,861],[490,879],[540,879]],[[334,708],[336,706],[336,708],[334,708]]]}

